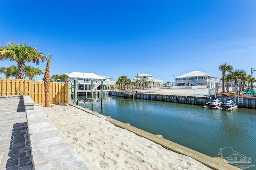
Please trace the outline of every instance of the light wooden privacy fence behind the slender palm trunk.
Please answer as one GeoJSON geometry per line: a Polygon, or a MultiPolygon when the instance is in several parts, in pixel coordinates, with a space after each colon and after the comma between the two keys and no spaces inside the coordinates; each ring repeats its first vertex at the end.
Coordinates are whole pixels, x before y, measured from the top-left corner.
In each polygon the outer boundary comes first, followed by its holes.
{"type": "MultiPolygon", "coordinates": [[[[29,95],[36,104],[44,104],[44,82],[28,79],[0,79],[0,96],[29,95]]],[[[69,82],[50,82],[50,104],[69,104],[69,82]]]]}

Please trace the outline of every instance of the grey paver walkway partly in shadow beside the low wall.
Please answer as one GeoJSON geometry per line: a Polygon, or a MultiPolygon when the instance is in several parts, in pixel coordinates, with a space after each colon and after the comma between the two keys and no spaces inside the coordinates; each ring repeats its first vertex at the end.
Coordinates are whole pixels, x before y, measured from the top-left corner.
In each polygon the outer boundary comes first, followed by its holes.
{"type": "Polygon", "coordinates": [[[32,170],[23,99],[0,98],[0,170],[32,170]]]}

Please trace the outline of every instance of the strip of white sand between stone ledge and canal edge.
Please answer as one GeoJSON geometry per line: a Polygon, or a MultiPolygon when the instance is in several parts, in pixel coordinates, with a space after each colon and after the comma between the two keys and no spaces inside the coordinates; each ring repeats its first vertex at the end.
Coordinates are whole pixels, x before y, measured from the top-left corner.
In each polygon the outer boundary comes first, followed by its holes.
{"type": "Polygon", "coordinates": [[[91,170],[202,170],[204,164],[73,106],[35,106],[80,154],[91,170]]]}

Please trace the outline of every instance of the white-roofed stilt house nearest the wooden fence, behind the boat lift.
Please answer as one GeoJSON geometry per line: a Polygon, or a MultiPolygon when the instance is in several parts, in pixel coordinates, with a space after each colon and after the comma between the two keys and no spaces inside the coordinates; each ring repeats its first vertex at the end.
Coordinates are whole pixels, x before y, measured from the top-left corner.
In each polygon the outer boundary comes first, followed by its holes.
{"type": "Polygon", "coordinates": [[[99,76],[94,73],[88,72],[72,72],[72,73],[65,73],[69,76],[71,88],[74,89],[74,78],[77,79],[77,90],[99,90],[101,89],[101,81],[103,80],[103,89],[111,89],[115,86],[116,81],[113,81],[112,78],[106,76],[99,76]]]}

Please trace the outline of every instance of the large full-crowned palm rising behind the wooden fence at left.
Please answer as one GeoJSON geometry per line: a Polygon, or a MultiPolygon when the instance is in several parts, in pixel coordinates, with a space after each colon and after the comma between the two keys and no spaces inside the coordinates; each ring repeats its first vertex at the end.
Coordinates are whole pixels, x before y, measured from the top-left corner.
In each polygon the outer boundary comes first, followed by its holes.
{"type": "Polygon", "coordinates": [[[5,46],[1,46],[0,60],[2,59],[8,59],[10,61],[17,62],[19,79],[24,79],[26,76],[26,62],[39,64],[40,59],[42,60],[42,62],[46,60],[45,55],[43,53],[39,53],[36,47],[30,46],[26,43],[13,43],[12,41],[10,41],[10,43],[7,43],[5,46]]]}

